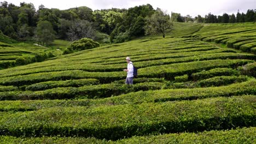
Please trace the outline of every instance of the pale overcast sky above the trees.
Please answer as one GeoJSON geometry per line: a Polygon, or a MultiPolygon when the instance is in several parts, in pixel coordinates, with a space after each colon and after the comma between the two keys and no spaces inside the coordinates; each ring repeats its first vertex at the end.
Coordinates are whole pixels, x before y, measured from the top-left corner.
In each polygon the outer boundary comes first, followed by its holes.
{"type": "MultiPolygon", "coordinates": [[[[20,2],[33,3],[38,9],[40,4],[45,8],[57,8],[60,10],[86,6],[92,10],[111,8],[131,8],[143,4],[151,4],[154,9],[161,8],[167,13],[180,13],[182,16],[205,16],[208,13],[214,15],[246,13],[248,9],[256,9],[256,0],[6,0],[8,3],[20,5],[20,2]]],[[[1,1],[3,2],[3,1],[1,1]]]]}

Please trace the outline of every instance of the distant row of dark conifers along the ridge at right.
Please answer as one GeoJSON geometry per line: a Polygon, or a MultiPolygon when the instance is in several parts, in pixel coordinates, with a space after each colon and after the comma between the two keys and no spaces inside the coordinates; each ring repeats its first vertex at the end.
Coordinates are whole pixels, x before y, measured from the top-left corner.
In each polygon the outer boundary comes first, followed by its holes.
{"type": "Polygon", "coordinates": [[[238,23],[238,22],[255,22],[256,21],[256,9],[248,9],[247,13],[240,13],[228,15],[224,13],[223,15],[213,15],[209,13],[202,17],[201,15],[195,16],[195,18],[190,15],[181,16],[178,13],[172,13],[172,20],[176,22],[195,22],[195,23],[238,23]]]}

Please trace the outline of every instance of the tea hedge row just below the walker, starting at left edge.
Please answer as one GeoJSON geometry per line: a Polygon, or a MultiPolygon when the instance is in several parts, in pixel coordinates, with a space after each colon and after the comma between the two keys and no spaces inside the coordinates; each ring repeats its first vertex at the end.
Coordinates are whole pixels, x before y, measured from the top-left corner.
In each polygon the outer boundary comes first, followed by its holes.
{"type": "MultiPolygon", "coordinates": [[[[13,91],[0,92],[0,100],[31,100],[31,99],[71,99],[71,98],[106,98],[137,91],[161,89],[164,83],[144,82],[135,85],[103,84],[83,87],[58,87],[43,89],[44,91],[13,91]]],[[[37,89],[33,89],[37,90],[37,89]]]]}

